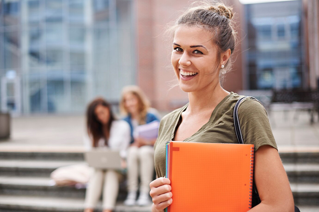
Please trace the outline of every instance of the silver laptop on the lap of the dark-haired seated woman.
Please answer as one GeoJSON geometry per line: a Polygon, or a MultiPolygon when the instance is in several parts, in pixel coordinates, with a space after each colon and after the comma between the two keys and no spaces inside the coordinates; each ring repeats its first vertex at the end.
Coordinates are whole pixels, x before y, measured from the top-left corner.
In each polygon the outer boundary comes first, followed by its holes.
{"type": "Polygon", "coordinates": [[[89,166],[101,169],[122,169],[119,151],[109,149],[90,150],[84,153],[89,166]]]}

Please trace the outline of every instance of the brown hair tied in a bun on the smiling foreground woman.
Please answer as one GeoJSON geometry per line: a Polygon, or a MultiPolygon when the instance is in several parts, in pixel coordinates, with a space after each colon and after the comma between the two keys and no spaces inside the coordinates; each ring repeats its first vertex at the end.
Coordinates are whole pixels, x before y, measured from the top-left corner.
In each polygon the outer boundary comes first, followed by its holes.
{"type": "MultiPolygon", "coordinates": [[[[233,9],[223,3],[214,1],[194,2],[191,8],[183,12],[177,20],[168,28],[169,34],[174,34],[178,26],[197,26],[212,32],[212,41],[218,48],[218,60],[216,67],[220,67],[221,53],[231,50],[234,52],[237,32],[234,30],[235,22],[233,9]],[[197,5],[197,6],[196,6],[197,5]]],[[[229,71],[232,66],[231,58],[224,64],[224,71],[229,71]]],[[[224,74],[219,72],[219,79],[223,81],[224,74]]]]}

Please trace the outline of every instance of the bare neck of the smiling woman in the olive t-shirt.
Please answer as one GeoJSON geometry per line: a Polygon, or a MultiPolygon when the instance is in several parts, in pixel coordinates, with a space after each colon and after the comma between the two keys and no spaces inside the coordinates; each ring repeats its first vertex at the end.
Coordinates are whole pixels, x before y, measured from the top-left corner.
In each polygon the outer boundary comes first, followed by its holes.
{"type": "Polygon", "coordinates": [[[187,110],[189,113],[200,113],[205,110],[215,108],[221,100],[229,94],[218,83],[205,87],[204,89],[196,92],[189,92],[189,106],[187,110]]]}

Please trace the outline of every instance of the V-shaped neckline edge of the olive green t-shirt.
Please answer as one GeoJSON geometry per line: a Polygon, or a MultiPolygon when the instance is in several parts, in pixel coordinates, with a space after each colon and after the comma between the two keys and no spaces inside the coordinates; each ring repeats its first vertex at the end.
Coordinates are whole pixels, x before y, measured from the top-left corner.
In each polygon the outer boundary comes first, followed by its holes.
{"type": "MultiPolygon", "coordinates": [[[[217,110],[219,109],[219,107],[231,96],[233,95],[234,92],[230,92],[223,100],[221,100],[217,106],[214,108],[213,112],[211,113],[211,117],[209,118],[209,120],[207,121],[207,123],[205,123],[196,133],[194,133],[193,135],[191,135],[190,137],[184,139],[183,141],[186,141],[188,140],[189,138],[192,138],[194,137],[195,135],[197,135],[198,133],[202,132],[203,129],[205,129],[205,127],[207,127],[207,125],[209,125],[211,123],[211,120],[212,118],[214,117],[215,113],[217,112],[217,110]]],[[[184,112],[186,110],[186,108],[188,107],[189,103],[187,103],[185,106],[183,106],[181,108],[181,111],[178,113],[176,119],[175,119],[175,124],[174,124],[174,127],[171,131],[171,136],[170,136],[170,141],[172,141],[172,139],[174,138],[175,136],[175,130],[176,130],[176,126],[178,124],[178,121],[180,120],[181,118],[181,115],[182,115],[182,112],[184,112]]]]}

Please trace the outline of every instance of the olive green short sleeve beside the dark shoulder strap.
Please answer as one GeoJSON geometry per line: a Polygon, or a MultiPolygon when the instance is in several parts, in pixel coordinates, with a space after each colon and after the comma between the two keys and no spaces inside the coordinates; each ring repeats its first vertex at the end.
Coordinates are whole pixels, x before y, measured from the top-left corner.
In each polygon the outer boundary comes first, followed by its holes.
{"type": "Polygon", "coordinates": [[[238,108],[238,118],[245,144],[254,144],[255,151],[263,145],[278,150],[267,112],[260,102],[244,100],[238,108]]]}

